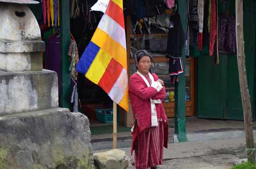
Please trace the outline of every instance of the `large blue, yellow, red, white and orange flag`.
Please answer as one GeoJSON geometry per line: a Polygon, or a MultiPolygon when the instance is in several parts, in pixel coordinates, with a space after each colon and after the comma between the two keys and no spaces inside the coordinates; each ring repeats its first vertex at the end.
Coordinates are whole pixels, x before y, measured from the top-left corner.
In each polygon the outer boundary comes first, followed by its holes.
{"type": "Polygon", "coordinates": [[[122,0],[109,1],[76,69],[99,85],[114,102],[128,111],[128,77],[122,0]]]}

